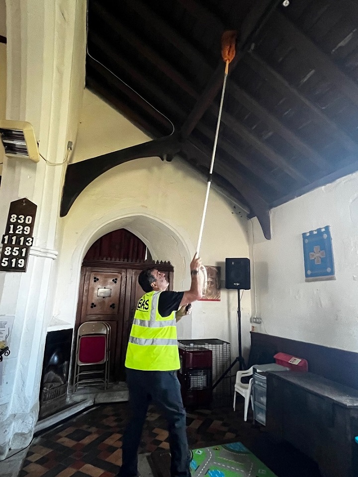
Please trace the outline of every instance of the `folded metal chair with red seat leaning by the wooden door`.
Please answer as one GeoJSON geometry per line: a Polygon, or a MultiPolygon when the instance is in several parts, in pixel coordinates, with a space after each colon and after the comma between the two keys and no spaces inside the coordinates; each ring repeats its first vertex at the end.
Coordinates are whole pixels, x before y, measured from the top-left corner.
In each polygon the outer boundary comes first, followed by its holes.
{"type": "Polygon", "coordinates": [[[104,385],[109,380],[110,327],[104,321],[88,321],[78,329],[74,388],[104,385]]]}

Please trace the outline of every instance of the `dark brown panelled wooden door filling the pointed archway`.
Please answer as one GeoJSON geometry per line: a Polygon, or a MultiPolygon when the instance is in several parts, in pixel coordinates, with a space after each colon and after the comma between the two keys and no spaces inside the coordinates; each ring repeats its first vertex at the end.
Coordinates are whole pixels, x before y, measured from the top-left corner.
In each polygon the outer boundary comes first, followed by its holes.
{"type": "Polygon", "coordinates": [[[173,289],[172,265],[169,262],[154,262],[147,246],[123,228],[97,239],[85,255],[75,331],[77,333],[79,326],[87,322],[104,321],[109,325],[110,382],[125,379],[129,332],[136,304],[143,295],[138,275],[151,267],[164,272],[169,289],[173,289]]]}

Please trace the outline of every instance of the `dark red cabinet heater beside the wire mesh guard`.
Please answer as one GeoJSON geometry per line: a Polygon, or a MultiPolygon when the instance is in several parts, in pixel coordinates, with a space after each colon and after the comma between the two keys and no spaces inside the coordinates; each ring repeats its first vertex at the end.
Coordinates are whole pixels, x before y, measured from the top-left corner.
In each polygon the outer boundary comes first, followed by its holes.
{"type": "Polygon", "coordinates": [[[181,396],[184,406],[208,405],[212,397],[212,351],[179,348],[181,396]]]}

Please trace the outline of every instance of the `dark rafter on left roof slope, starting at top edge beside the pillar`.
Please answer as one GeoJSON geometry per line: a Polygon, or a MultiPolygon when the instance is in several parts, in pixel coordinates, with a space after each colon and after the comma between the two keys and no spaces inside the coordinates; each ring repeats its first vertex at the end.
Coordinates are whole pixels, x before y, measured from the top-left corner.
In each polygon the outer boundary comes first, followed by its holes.
{"type": "MultiPolygon", "coordinates": [[[[121,35],[131,44],[131,47],[136,49],[138,53],[147,58],[151,63],[154,63],[159,70],[162,71],[168,78],[174,81],[183,91],[188,95],[198,98],[199,95],[192,88],[188,81],[177,71],[172,65],[162,58],[150,46],[144,43],[132,30],[127,28],[118,18],[111,15],[98,0],[91,0],[91,10],[100,16],[105,23],[113,30],[115,34],[120,31],[121,35]]],[[[90,35],[89,35],[90,37],[90,35]]],[[[132,52],[134,55],[135,53],[132,52]]]]}

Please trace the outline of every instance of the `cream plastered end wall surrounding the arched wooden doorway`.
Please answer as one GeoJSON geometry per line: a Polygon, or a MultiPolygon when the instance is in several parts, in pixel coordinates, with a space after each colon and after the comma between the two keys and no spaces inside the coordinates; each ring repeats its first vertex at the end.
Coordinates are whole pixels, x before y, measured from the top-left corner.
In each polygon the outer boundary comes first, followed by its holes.
{"type": "MultiPolygon", "coordinates": [[[[83,160],[148,141],[139,129],[89,91],[72,160],[83,160]]],[[[124,227],[139,236],[155,260],[175,267],[174,287],[190,285],[189,263],[196,248],[206,182],[184,161],[143,158],[117,166],[93,181],[63,221],[55,319],[75,322],[81,262],[101,235],[124,227]]],[[[221,266],[226,257],[249,256],[248,221],[218,192],[210,192],[200,255],[205,265],[221,266]],[[235,213],[233,213],[235,212],[235,213]]],[[[198,302],[179,323],[181,338],[220,338],[237,353],[237,292],[221,290],[220,302],[198,302]]],[[[242,300],[243,347],[250,343],[250,292],[242,300]]]]}

